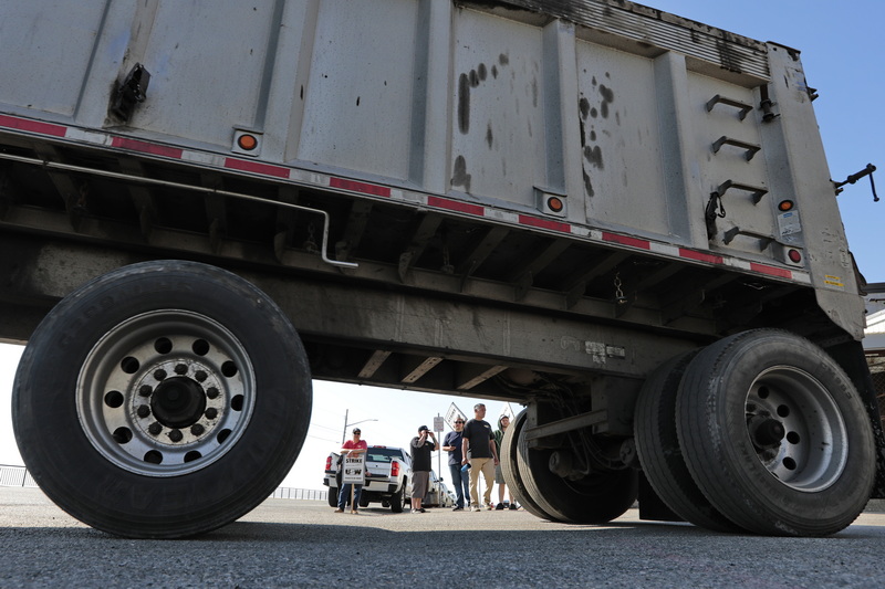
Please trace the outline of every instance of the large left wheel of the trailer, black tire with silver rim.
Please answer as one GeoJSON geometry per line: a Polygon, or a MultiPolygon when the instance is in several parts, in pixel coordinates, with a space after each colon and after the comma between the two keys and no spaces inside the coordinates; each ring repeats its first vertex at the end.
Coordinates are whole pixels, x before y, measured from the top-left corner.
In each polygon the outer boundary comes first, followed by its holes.
{"type": "Polygon", "coordinates": [[[264,501],[306,435],[311,379],[289,319],[217,267],[122,267],[33,333],[13,423],[37,483],[104,532],[174,538],[264,501]]]}

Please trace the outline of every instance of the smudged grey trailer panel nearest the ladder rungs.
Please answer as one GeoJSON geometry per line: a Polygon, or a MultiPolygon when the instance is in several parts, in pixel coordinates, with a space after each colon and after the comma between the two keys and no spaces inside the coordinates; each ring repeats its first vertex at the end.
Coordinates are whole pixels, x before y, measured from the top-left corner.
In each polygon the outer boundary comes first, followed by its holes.
{"type": "Polygon", "coordinates": [[[653,62],[580,41],[577,76],[591,222],[668,234],[653,62]]]}

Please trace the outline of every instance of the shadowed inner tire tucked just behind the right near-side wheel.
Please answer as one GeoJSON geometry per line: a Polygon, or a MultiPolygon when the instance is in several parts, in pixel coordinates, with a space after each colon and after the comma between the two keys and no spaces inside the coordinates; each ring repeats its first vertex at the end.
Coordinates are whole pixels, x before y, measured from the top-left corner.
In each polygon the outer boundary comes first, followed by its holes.
{"type": "Polygon", "coordinates": [[[633,423],[639,463],[658,497],[686,522],[714,532],[743,532],[707,501],[679,448],[676,396],[685,369],[697,353],[687,351],[670,359],[644,382],[633,423]]]}

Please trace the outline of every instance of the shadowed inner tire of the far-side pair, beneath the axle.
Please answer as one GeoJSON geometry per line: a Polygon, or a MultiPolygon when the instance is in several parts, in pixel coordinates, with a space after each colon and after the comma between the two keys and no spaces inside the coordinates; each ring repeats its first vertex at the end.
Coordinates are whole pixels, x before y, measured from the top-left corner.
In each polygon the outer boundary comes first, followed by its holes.
{"type": "Polygon", "coordinates": [[[597,472],[568,481],[550,471],[550,450],[530,449],[519,435],[517,469],[529,496],[551,519],[568,524],[604,524],[623,515],[636,501],[638,472],[597,472]]]}

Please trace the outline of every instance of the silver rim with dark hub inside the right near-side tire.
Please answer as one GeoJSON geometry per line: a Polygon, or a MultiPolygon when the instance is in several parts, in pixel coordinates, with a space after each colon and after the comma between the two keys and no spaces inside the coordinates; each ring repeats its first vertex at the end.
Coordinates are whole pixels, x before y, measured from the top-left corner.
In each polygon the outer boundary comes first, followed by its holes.
{"type": "Polygon", "coordinates": [[[760,374],[747,396],[747,432],[782,484],[806,493],[835,483],[847,462],[847,431],[830,391],[795,367],[760,374]]]}

